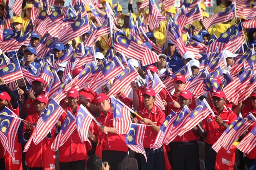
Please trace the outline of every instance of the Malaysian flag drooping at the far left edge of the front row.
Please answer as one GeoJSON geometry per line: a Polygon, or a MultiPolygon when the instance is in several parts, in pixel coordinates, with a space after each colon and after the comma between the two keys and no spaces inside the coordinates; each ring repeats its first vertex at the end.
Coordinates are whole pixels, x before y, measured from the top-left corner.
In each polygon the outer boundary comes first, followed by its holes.
{"type": "Polygon", "coordinates": [[[9,108],[0,112],[0,141],[12,160],[15,160],[15,139],[21,119],[9,108]]]}

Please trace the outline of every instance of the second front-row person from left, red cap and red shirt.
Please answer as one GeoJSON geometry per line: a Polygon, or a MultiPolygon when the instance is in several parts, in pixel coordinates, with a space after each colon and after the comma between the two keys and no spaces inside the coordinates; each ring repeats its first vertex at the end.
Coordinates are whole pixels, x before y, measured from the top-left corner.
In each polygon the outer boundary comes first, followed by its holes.
{"type": "MultiPolygon", "coordinates": [[[[32,115],[29,115],[26,118],[27,122],[24,122],[23,126],[23,138],[28,141],[31,137],[33,131],[35,130],[38,118],[41,113],[44,111],[44,108],[47,107],[47,99],[45,96],[37,96],[33,100],[35,106],[35,112],[32,115]]],[[[25,153],[26,165],[28,170],[34,169],[43,169],[44,155],[48,157],[55,156],[54,152],[46,152],[46,148],[50,147],[55,136],[55,127],[47,134],[47,136],[37,145],[34,142],[31,142],[29,149],[25,153]]]]}

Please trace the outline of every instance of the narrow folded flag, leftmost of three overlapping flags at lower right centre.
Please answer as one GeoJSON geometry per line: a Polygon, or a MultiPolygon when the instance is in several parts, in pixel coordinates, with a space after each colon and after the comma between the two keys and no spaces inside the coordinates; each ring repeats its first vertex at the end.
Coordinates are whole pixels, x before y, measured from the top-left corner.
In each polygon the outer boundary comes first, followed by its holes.
{"type": "Polygon", "coordinates": [[[157,133],[157,137],[154,143],[150,146],[152,149],[156,150],[162,147],[163,144],[169,144],[168,136],[172,130],[176,117],[177,114],[174,111],[171,111],[171,113],[166,117],[166,119],[163,121],[163,124],[160,127],[159,132],[157,133]]]}

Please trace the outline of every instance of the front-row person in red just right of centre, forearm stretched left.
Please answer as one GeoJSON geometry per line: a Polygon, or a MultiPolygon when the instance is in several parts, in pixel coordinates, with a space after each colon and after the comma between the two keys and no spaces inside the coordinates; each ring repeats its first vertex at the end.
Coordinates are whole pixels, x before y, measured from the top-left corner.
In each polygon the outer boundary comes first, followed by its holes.
{"type": "Polygon", "coordinates": [[[140,107],[138,110],[138,114],[143,119],[140,120],[140,118],[137,116],[132,119],[133,123],[151,125],[146,126],[143,143],[148,161],[146,162],[145,157],[140,155],[141,170],[152,170],[153,168],[157,168],[157,170],[165,169],[163,147],[156,150],[150,149],[150,146],[155,141],[157,133],[160,130],[160,126],[165,119],[165,113],[154,105],[156,100],[155,96],[156,93],[154,90],[150,88],[147,89],[143,93],[143,108],[140,107]]]}

